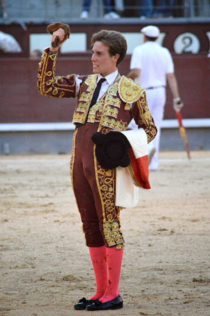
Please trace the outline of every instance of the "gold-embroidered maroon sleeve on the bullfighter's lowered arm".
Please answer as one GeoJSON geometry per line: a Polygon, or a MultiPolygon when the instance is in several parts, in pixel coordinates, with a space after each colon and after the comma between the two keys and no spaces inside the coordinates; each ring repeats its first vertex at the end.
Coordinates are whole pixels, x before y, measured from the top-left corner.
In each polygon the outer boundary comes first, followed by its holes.
{"type": "Polygon", "coordinates": [[[155,126],[152,115],[149,112],[145,91],[142,93],[140,99],[134,102],[131,113],[139,128],[142,127],[146,132],[147,141],[150,143],[157,134],[157,127],[155,126]]]}

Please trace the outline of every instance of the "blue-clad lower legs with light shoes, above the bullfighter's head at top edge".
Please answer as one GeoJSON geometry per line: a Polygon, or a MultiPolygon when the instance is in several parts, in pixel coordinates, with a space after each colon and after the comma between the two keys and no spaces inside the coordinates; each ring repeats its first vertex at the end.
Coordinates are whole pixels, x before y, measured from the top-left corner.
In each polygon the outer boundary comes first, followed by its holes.
{"type": "MultiPolygon", "coordinates": [[[[119,19],[120,16],[112,10],[111,0],[103,0],[105,19],[119,19]]],[[[89,17],[91,0],[83,0],[80,19],[86,20],[89,17]]]]}

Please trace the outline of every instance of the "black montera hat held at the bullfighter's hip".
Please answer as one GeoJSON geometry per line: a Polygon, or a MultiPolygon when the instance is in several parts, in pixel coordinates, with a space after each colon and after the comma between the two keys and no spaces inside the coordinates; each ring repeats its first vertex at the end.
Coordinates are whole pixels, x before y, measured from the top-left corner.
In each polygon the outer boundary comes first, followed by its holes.
{"type": "Polygon", "coordinates": [[[96,132],[93,134],[92,140],[96,144],[96,158],[103,168],[127,167],[130,164],[131,145],[124,134],[96,132]]]}

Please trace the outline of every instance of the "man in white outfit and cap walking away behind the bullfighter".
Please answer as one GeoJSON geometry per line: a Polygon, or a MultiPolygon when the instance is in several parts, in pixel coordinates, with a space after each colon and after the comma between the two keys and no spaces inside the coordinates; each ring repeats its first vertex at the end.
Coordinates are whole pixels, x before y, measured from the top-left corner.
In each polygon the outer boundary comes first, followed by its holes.
{"type": "MultiPolygon", "coordinates": [[[[174,63],[169,50],[160,46],[156,40],[160,30],[153,25],[141,29],[143,44],[137,46],[131,57],[130,72],[127,78],[139,82],[146,89],[147,103],[157,127],[157,136],[150,143],[149,154],[151,157],[149,169],[157,170],[159,166],[158,152],[160,144],[160,127],[164,116],[166,103],[166,84],[169,83],[173,94],[173,106],[179,112],[183,106],[180,99],[177,81],[174,74],[174,63]]],[[[132,120],[129,127],[138,128],[132,120]]]]}

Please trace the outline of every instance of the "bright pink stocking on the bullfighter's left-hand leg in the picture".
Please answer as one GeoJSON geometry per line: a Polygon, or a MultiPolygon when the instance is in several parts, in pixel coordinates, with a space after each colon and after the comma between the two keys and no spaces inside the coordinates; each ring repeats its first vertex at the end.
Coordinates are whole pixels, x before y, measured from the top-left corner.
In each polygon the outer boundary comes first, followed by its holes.
{"type": "Polygon", "coordinates": [[[96,294],[90,300],[102,297],[107,286],[106,247],[89,247],[90,257],[96,277],[96,294]]]}

